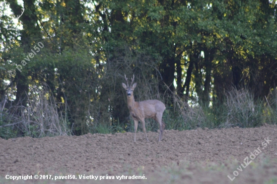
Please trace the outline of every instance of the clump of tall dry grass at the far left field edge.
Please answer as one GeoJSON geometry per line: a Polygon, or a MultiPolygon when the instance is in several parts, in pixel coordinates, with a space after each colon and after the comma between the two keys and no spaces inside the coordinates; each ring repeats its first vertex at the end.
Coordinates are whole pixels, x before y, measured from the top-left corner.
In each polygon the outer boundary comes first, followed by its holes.
{"type": "Polygon", "coordinates": [[[59,112],[57,103],[51,93],[43,89],[31,89],[32,98],[27,95],[27,107],[10,102],[9,109],[7,97],[0,103],[0,136],[12,138],[17,136],[57,136],[70,135],[66,115],[59,112]]]}

